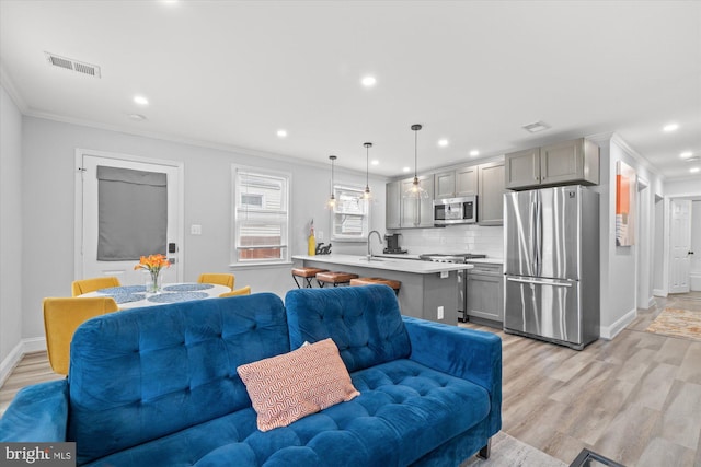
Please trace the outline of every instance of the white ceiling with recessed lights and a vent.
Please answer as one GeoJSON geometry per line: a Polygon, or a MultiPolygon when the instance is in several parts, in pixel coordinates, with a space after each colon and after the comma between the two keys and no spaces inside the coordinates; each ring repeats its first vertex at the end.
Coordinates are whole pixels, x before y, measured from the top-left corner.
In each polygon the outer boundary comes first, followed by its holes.
{"type": "Polygon", "coordinates": [[[614,131],[701,180],[698,1],[0,0],[0,59],[23,113],[120,131],[363,172],[371,141],[386,176],[414,170],[412,124],[420,172],[614,131]]]}

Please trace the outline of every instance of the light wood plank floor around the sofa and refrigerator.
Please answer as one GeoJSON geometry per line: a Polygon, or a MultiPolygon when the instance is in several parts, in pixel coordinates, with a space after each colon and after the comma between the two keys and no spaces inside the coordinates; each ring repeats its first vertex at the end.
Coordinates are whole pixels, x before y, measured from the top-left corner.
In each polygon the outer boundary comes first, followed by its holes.
{"type": "MultiPolygon", "coordinates": [[[[665,306],[701,312],[701,293],[658,300],[611,341],[575,351],[492,328],[503,339],[503,431],[570,464],[583,447],[625,466],[701,466],[701,341],[645,332],[665,306]]],[[[27,354],[0,388],[58,380],[27,354]]]]}

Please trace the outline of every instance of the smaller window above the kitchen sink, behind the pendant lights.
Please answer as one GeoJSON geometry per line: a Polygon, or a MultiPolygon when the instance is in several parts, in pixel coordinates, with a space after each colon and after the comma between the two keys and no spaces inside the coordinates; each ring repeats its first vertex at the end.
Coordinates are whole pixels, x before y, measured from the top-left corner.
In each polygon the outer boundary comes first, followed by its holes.
{"type": "Polygon", "coordinates": [[[333,210],[332,240],[365,241],[368,236],[369,203],[363,188],[333,187],[336,206],[333,210]]]}

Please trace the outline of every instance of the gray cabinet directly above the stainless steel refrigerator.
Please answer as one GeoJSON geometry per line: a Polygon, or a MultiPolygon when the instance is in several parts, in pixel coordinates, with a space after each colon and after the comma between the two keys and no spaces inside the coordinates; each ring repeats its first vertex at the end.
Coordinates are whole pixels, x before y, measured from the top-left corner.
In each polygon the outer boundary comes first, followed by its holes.
{"type": "Polygon", "coordinates": [[[599,184],[599,147],[579,138],[506,154],[506,188],[599,184]]]}

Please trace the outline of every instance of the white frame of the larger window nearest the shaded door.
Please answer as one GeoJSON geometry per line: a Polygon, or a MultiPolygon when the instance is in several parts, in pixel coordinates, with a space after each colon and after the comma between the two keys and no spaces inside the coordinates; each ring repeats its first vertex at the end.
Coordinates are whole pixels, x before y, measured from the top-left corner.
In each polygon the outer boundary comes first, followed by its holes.
{"type": "MultiPolygon", "coordinates": [[[[290,202],[290,192],[291,192],[291,184],[292,184],[292,175],[289,172],[279,172],[279,171],[271,171],[267,168],[252,167],[245,165],[231,165],[231,257],[230,265],[231,267],[250,267],[250,266],[262,266],[262,265],[281,265],[290,262],[290,219],[291,219],[291,202],[290,202]],[[244,207],[239,206],[239,174],[240,173],[249,173],[253,175],[272,177],[272,178],[281,178],[285,180],[285,188],[281,192],[281,206],[279,211],[265,211],[258,210],[262,213],[267,214],[278,214],[284,215],[285,220],[281,222],[281,232],[280,232],[280,243],[275,245],[266,245],[269,247],[279,247],[280,248],[280,257],[279,258],[261,258],[261,259],[239,259],[239,250],[241,249],[255,249],[255,247],[245,247],[241,245],[239,238],[239,227],[243,222],[243,217],[246,214],[246,210],[244,207]]],[[[265,206],[266,197],[262,196],[263,206],[265,206]]],[[[255,211],[255,210],[254,210],[255,211]]],[[[251,212],[251,211],[249,211],[251,212]]],[[[257,248],[261,248],[258,246],[257,248]]]]}

